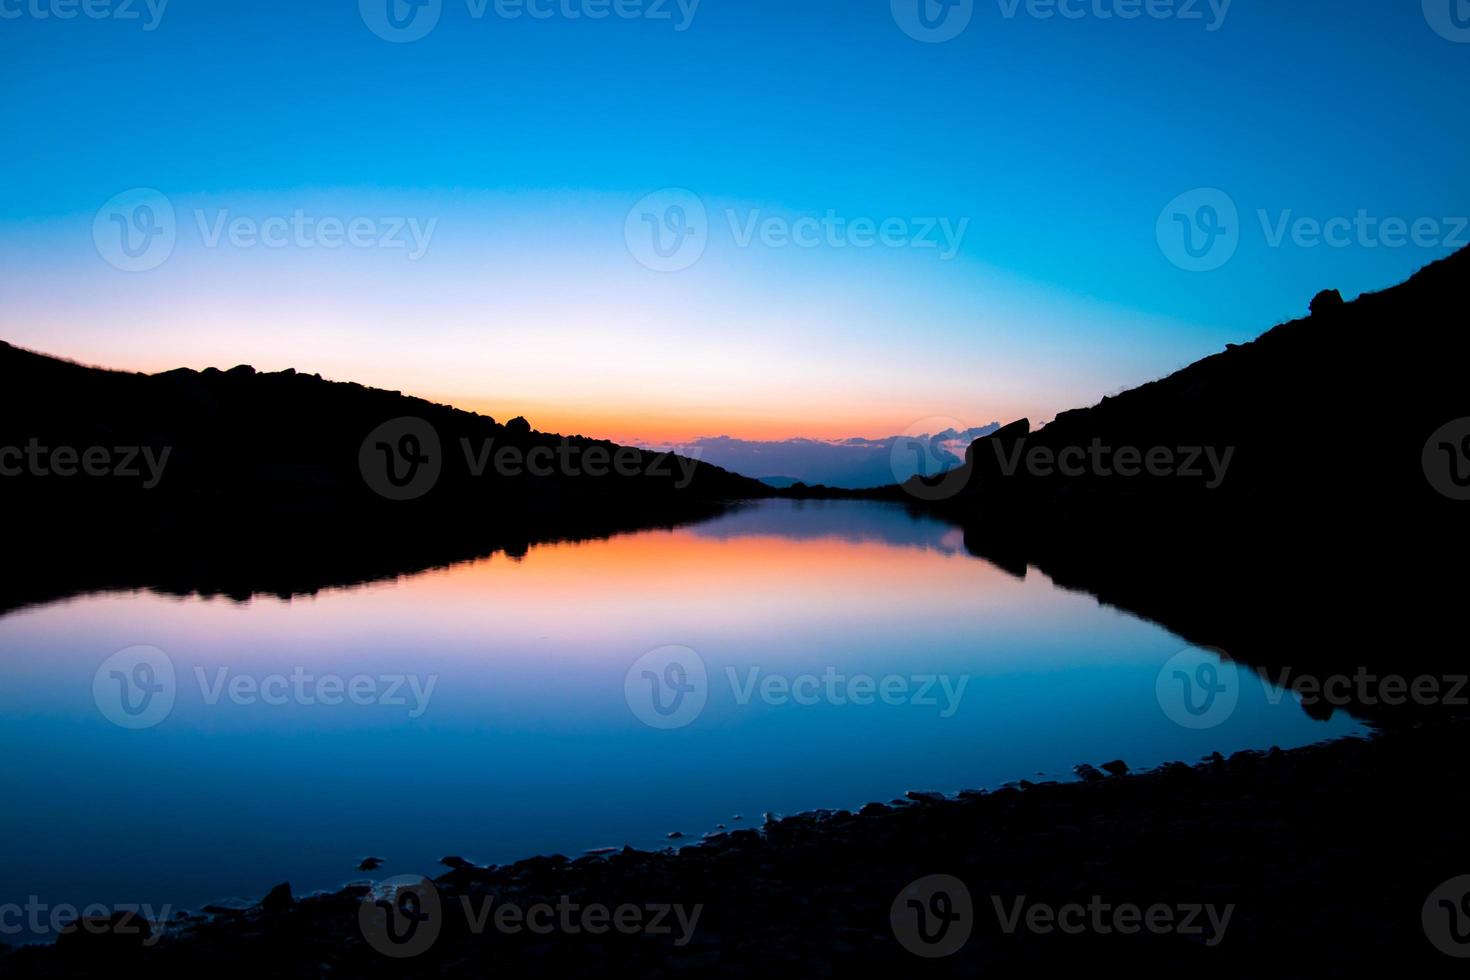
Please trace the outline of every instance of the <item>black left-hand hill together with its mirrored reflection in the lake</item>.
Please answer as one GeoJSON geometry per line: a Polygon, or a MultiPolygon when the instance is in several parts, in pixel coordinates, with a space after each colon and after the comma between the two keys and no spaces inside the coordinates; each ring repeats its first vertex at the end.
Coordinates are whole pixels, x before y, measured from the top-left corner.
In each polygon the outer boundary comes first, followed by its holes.
{"type": "Polygon", "coordinates": [[[694,460],[294,370],[141,375],[3,342],[0,469],[7,554],[26,569],[0,610],[101,589],[295,595],[672,526],[773,492],[694,460]],[[432,432],[440,467],[394,500],[375,467],[403,419],[432,432]],[[31,447],[44,453],[29,460],[31,447]],[[497,466],[500,451],[519,463],[497,466]],[[104,463],[90,476],[88,453],[104,463]]]}

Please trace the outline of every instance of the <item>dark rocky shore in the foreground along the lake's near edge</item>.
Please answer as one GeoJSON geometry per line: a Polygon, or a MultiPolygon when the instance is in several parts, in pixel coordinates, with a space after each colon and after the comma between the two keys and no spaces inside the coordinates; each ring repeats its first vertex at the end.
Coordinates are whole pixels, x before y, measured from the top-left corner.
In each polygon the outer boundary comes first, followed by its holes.
{"type": "Polygon", "coordinates": [[[1466,736],[1441,721],[916,793],[679,851],[466,864],[395,892],[278,895],[269,909],[179,920],[148,945],[12,951],[0,974],[1464,976],[1436,943],[1470,954],[1470,917],[1435,892],[1470,874],[1466,736]]]}

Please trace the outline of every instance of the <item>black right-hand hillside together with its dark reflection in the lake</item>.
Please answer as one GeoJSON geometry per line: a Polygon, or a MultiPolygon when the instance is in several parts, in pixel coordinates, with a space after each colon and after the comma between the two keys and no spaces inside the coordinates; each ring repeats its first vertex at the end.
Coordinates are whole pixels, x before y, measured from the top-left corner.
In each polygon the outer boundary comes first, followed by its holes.
{"type": "MultiPolygon", "coordinates": [[[[972,444],[950,483],[963,489],[931,507],[966,527],[976,555],[1036,566],[1273,674],[1464,674],[1449,611],[1470,585],[1458,560],[1470,525],[1436,489],[1442,460],[1426,442],[1470,417],[1470,336],[1451,313],[1467,272],[1470,250],[1036,432],[1005,426],[972,444]],[[1213,488],[1007,464],[1094,445],[1210,447],[1232,461],[1213,488]]],[[[1354,711],[1445,708],[1464,710],[1354,711]]]]}

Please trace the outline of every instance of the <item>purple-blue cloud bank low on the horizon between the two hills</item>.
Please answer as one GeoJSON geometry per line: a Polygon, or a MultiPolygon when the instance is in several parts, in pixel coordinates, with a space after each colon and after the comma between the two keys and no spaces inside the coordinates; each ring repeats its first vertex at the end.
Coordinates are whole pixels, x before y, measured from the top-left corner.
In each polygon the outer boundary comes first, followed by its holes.
{"type": "Polygon", "coordinates": [[[963,432],[945,429],[920,436],[831,441],[756,441],[717,435],[648,448],[673,450],[776,485],[800,480],[861,489],[901,483],[916,473],[942,473],[964,461],[970,442],[998,428],[1000,423],[992,422],[963,432]]]}

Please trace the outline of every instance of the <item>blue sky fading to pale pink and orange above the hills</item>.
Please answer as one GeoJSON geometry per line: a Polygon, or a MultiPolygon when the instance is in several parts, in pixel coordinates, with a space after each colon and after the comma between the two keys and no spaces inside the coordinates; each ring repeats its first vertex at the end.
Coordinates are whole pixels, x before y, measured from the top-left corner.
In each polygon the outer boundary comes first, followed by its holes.
{"type": "Polygon", "coordinates": [[[879,439],[1470,242],[1461,0],[416,1],[0,0],[0,339],[879,439]]]}

